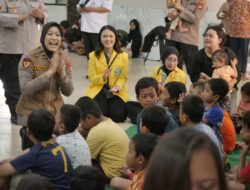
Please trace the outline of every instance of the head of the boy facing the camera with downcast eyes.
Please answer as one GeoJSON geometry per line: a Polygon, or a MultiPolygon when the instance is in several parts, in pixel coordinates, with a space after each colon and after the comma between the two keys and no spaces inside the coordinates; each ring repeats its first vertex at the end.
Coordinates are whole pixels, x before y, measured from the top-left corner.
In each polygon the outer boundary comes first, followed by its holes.
{"type": "Polygon", "coordinates": [[[158,92],[158,83],[153,77],[143,77],[135,85],[136,98],[143,108],[157,104],[158,92]]]}

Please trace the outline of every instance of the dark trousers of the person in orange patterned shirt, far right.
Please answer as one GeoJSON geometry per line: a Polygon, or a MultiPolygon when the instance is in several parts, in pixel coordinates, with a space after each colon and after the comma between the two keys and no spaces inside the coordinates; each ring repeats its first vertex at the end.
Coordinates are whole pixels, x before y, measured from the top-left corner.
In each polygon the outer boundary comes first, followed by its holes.
{"type": "Polygon", "coordinates": [[[233,38],[230,37],[230,48],[238,57],[237,68],[238,71],[245,74],[247,70],[247,58],[248,58],[248,45],[249,38],[233,38]]]}

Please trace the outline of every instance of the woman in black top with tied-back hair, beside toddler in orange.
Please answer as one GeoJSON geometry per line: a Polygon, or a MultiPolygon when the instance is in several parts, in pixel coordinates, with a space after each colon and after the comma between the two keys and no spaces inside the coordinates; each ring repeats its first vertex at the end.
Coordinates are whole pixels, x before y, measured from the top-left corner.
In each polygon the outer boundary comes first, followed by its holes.
{"type": "Polygon", "coordinates": [[[225,33],[222,27],[208,26],[204,33],[204,48],[195,55],[192,65],[191,81],[203,81],[203,74],[212,77],[213,62],[212,54],[221,48],[225,40],[225,33]]]}

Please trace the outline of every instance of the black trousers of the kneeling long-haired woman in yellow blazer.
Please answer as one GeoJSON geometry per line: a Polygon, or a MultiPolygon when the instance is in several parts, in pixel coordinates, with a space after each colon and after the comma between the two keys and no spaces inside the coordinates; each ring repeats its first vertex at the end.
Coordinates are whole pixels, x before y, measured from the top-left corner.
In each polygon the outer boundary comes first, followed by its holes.
{"type": "Polygon", "coordinates": [[[127,118],[125,102],[118,96],[107,99],[106,93],[101,90],[94,100],[100,106],[104,116],[111,118],[114,122],[123,122],[127,118]]]}

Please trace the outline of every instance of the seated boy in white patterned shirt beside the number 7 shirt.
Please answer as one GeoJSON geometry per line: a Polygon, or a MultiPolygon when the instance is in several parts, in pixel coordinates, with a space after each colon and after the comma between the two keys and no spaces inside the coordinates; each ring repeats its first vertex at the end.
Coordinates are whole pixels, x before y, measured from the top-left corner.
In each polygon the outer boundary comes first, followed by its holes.
{"type": "Polygon", "coordinates": [[[81,120],[78,107],[65,104],[56,114],[54,133],[58,135],[56,142],[69,155],[73,168],[91,165],[89,147],[77,127],[81,120]]]}

